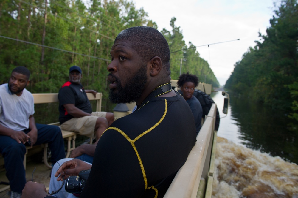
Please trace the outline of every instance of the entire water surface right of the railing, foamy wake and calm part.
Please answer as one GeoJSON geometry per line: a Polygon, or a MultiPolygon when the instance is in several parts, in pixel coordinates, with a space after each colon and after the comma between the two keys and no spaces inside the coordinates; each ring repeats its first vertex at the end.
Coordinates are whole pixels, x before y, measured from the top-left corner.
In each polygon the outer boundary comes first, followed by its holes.
{"type": "Polygon", "coordinates": [[[225,96],[211,95],[221,117],[212,198],[298,198],[297,130],[289,127],[291,119],[229,95],[227,115],[225,96]]]}

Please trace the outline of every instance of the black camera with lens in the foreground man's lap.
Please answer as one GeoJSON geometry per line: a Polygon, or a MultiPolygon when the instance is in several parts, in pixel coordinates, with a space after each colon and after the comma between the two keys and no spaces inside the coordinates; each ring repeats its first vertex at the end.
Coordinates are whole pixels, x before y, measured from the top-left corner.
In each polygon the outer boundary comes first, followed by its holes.
{"type": "Polygon", "coordinates": [[[65,183],[65,190],[68,193],[81,193],[86,185],[91,169],[82,170],[79,176],[69,176],[65,183]]]}

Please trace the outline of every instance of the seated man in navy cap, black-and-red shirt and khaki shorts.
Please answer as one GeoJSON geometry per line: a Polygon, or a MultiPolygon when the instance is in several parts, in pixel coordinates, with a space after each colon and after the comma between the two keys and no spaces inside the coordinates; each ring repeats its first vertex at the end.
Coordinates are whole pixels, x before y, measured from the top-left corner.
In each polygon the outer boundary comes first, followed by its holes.
{"type": "MultiPolygon", "coordinates": [[[[105,129],[114,121],[111,112],[92,112],[86,93],[94,96],[97,91],[85,90],[80,81],[82,70],[79,66],[69,68],[69,81],[59,90],[59,122],[61,129],[75,131],[98,141],[105,129]]],[[[97,143],[96,141],[96,143],[97,143]]]]}

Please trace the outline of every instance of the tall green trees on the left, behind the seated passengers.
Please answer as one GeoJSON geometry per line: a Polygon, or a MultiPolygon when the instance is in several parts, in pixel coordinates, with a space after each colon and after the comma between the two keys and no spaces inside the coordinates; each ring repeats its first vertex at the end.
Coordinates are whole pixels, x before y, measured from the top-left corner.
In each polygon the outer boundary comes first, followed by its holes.
{"type": "MultiPolygon", "coordinates": [[[[171,51],[187,48],[175,21],[170,21],[171,32],[162,30],[171,51]]],[[[132,26],[158,28],[143,8],[126,0],[1,0],[0,84],[15,66],[26,66],[31,71],[29,91],[55,93],[68,80],[69,67],[78,65],[83,86],[103,92],[106,99],[111,46],[120,31],[132,26]]],[[[195,48],[171,54],[172,79],[178,79],[180,66],[182,73],[219,86],[195,48]]],[[[104,102],[103,110],[109,106],[104,102]]]]}

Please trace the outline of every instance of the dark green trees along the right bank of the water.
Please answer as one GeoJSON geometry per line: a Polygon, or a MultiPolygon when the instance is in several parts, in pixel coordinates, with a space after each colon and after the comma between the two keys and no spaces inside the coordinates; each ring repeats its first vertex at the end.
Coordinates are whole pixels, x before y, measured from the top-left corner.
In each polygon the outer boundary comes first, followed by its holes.
{"type": "Polygon", "coordinates": [[[263,42],[235,64],[225,88],[273,109],[285,110],[298,120],[298,7],[283,0],[274,11],[263,42]]]}

